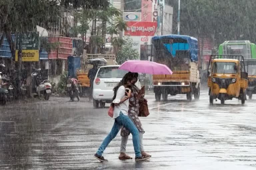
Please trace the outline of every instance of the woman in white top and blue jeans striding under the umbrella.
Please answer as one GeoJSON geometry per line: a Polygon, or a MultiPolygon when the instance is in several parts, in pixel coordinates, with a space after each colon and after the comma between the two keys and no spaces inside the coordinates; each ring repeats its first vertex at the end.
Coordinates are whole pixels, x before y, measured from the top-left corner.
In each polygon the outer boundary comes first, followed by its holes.
{"type": "Polygon", "coordinates": [[[113,119],[115,119],[115,123],[107,135],[107,137],[103,140],[102,144],[100,145],[98,151],[94,155],[95,158],[100,160],[101,162],[107,162],[107,159],[104,159],[102,156],[103,151],[106,149],[108,144],[113,140],[117,133],[119,132],[120,128],[125,127],[129,129],[132,133],[132,141],[133,147],[135,151],[135,160],[146,160],[149,159],[150,156],[142,156],[140,152],[140,140],[139,140],[139,131],[128,117],[128,109],[129,109],[129,98],[131,97],[131,90],[126,92],[125,89],[132,85],[133,75],[129,72],[124,75],[121,82],[113,89],[114,90],[114,97],[112,106],[114,106],[114,114],[113,119]]]}

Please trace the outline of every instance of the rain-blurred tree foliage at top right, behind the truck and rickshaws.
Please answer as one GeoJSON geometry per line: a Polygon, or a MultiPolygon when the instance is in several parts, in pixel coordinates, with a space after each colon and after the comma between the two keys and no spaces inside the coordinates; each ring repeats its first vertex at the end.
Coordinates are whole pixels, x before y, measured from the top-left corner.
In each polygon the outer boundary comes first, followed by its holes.
{"type": "MultiPolygon", "coordinates": [[[[176,33],[178,0],[173,7],[173,33],[176,33]]],[[[254,0],[182,0],[180,31],[183,35],[212,38],[216,45],[225,40],[256,42],[255,9],[254,0]]]]}

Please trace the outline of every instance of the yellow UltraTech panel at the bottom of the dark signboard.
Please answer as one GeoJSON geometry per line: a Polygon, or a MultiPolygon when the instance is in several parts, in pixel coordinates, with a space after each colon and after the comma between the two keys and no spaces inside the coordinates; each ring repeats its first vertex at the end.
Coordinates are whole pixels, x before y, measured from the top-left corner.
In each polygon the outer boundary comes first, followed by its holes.
{"type": "MultiPolygon", "coordinates": [[[[18,61],[18,50],[15,52],[15,61],[18,61]]],[[[39,50],[23,49],[21,61],[39,61],[39,50]]]]}

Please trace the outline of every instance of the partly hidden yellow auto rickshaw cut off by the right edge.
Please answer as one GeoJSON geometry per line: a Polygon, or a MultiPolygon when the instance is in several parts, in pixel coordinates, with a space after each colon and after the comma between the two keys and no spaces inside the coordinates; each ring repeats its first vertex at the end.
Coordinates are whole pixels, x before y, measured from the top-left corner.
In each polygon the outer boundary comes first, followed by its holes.
{"type": "Polygon", "coordinates": [[[248,88],[246,90],[249,99],[252,99],[252,95],[256,94],[256,59],[245,59],[248,63],[248,88]]]}

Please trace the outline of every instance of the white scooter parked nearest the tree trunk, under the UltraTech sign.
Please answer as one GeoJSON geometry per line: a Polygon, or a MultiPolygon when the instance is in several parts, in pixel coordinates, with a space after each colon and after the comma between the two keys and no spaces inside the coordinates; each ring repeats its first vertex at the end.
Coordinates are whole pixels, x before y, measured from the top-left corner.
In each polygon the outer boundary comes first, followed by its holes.
{"type": "Polygon", "coordinates": [[[44,78],[39,72],[33,72],[31,76],[33,78],[32,91],[36,91],[39,97],[43,95],[45,100],[49,100],[52,93],[52,85],[50,84],[50,81],[48,79],[43,80],[44,78]]]}

